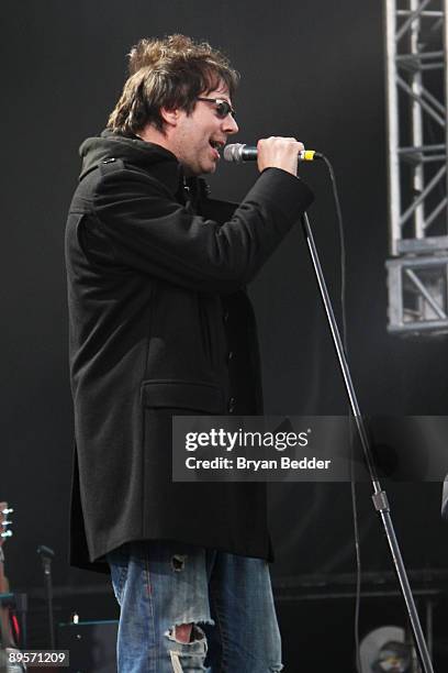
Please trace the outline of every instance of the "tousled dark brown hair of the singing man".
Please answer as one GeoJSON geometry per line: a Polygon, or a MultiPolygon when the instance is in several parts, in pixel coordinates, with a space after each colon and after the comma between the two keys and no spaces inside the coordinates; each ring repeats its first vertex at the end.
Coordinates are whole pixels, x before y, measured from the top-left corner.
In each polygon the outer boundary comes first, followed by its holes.
{"type": "Polygon", "coordinates": [[[224,54],[186,35],[141,40],[128,58],[130,77],[108,121],[108,129],[124,135],[138,133],[148,123],[164,132],[160,108],[190,114],[198,96],[222,84],[233,96],[239,80],[224,54]]]}

